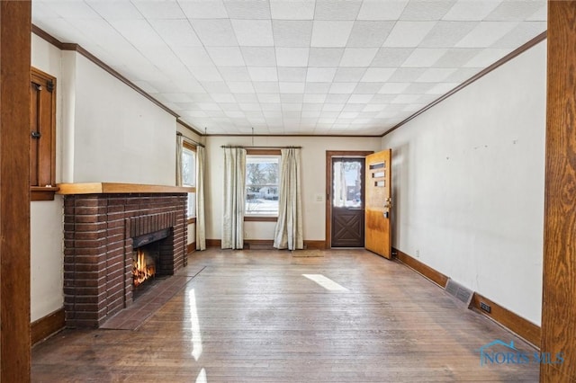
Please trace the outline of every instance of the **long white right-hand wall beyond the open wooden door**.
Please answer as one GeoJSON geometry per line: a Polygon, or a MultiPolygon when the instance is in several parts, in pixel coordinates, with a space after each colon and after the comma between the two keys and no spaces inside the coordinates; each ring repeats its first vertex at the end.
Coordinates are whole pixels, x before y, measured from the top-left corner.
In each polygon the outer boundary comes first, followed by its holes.
{"type": "Polygon", "coordinates": [[[383,138],[392,243],[540,324],[546,43],[383,138]]]}

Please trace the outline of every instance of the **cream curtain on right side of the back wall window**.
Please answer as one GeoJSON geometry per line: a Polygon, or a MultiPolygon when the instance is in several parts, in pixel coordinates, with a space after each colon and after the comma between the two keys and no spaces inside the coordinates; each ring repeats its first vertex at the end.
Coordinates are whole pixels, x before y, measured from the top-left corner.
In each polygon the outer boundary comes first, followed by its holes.
{"type": "Polygon", "coordinates": [[[277,249],[303,249],[301,149],[288,148],[281,152],[280,195],[274,246],[277,249]]]}

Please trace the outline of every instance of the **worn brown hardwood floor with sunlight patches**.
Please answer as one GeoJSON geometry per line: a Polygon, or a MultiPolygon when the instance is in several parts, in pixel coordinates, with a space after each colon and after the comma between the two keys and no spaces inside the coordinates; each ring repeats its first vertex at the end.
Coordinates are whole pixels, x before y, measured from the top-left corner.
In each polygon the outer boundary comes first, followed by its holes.
{"type": "Polygon", "coordinates": [[[538,380],[532,362],[481,366],[496,339],[536,350],[419,274],[364,250],[324,254],[193,253],[184,273],[202,272],[137,330],[65,330],[35,346],[32,381],[538,380]]]}

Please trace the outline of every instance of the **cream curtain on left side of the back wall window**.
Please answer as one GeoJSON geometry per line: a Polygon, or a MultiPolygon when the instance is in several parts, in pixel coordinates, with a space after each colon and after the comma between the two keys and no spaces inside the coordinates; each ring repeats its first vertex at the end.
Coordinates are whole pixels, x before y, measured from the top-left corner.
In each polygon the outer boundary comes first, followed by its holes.
{"type": "Polygon", "coordinates": [[[241,249],[244,246],[245,177],[246,149],[225,147],[222,249],[241,249]]]}

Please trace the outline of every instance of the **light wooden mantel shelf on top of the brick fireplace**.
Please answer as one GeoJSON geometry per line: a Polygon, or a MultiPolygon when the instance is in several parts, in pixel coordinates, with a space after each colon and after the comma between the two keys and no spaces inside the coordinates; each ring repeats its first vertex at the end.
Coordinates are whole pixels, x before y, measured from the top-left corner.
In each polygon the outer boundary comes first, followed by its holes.
{"type": "Polygon", "coordinates": [[[148,185],[141,183],[58,183],[58,194],[117,194],[195,192],[188,186],[148,185]]]}

